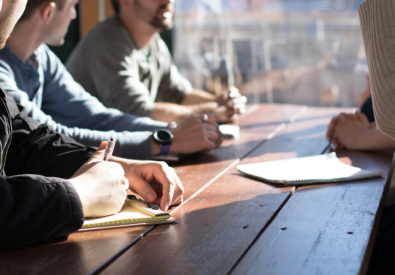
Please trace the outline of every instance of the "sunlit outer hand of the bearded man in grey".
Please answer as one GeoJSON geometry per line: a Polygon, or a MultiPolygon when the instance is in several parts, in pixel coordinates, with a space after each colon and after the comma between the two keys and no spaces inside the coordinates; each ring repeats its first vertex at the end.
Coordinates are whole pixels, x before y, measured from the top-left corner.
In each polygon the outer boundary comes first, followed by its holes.
{"type": "Polygon", "coordinates": [[[214,114],[218,123],[233,121],[239,114],[246,110],[247,98],[241,95],[239,89],[230,86],[217,97],[218,108],[214,114]]]}

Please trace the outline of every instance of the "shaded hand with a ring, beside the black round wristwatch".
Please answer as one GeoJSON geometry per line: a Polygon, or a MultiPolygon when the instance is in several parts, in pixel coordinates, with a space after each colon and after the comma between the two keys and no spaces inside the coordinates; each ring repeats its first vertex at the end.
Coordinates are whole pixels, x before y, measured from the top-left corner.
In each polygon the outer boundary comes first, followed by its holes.
{"type": "Polygon", "coordinates": [[[207,152],[220,146],[223,140],[213,114],[193,115],[180,122],[171,132],[174,138],[170,152],[173,153],[207,152]],[[207,120],[203,121],[205,117],[207,120]]]}

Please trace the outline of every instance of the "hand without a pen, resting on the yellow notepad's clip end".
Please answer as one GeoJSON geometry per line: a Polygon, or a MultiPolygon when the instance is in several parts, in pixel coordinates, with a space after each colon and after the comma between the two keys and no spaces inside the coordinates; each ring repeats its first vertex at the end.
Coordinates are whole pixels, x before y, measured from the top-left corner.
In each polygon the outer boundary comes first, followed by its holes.
{"type": "Polygon", "coordinates": [[[125,170],[129,189],[142,196],[147,202],[159,205],[166,211],[169,206],[182,203],[184,188],[175,173],[163,161],[137,161],[113,158],[125,170]]]}

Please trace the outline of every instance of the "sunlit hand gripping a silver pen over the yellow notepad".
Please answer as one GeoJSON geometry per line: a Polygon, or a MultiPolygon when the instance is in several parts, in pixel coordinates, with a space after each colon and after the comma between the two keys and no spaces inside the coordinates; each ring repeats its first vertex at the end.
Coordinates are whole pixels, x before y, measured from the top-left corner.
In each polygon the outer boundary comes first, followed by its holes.
{"type": "Polygon", "coordinates": [[[103,161],[106,141],[70,178],[81,200],[84,217],[118,213],[128,190],[128,180],[118,163],[103,161]]]}

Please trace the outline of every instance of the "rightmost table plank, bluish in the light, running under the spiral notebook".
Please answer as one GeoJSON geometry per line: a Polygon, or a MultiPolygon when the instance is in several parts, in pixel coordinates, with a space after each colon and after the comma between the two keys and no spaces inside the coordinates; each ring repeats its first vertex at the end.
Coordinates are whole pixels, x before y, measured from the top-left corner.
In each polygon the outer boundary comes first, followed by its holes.
{"type": "MultiPolygon", "coordinates": [[[[391,161],[388,153],[338,155],[366,169],[388,170],[391,161]]],[[[231,274],[364,274],[387,189],[385,177],[297,188],[231,274]]]]}

